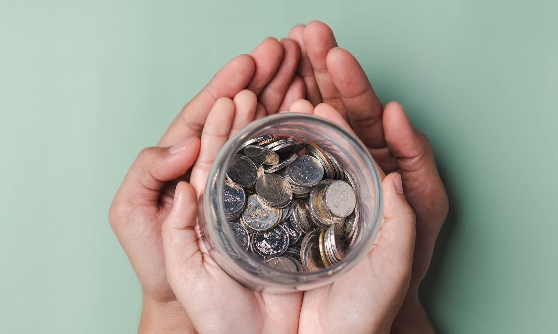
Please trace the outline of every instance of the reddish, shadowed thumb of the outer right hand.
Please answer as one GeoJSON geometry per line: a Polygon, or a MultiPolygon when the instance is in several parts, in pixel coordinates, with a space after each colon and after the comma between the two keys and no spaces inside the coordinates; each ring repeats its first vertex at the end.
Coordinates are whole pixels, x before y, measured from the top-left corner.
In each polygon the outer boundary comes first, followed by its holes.
{"type": "Polygon", "coordinates": [[[397,102],[386,105],[383,125],[386,143],[397,159],[407,198],[417,217],[421,222],[440,222],[439,227],[430,229],[435,238],[448,214],[448,198],[429,141],[413,129],[397,102]]]}

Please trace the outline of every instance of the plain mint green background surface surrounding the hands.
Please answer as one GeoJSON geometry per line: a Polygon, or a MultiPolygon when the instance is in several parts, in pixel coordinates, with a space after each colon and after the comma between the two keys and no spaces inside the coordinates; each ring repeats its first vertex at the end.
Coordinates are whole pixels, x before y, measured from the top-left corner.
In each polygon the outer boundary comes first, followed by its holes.
{"type": "Polygon", "coordinates": [[[107,210],[230,58],[319,18],[434,146],[451,200],[422,294],[441,333],[557,332],[555,1],[2,1],[0,332],[130,333],[107,210]]]}

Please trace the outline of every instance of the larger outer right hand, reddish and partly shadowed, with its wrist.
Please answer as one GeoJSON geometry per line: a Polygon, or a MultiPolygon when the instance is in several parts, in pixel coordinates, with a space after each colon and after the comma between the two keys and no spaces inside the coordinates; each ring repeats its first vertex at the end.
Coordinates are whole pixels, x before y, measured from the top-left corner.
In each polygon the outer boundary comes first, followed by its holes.
{"type": "Polygon", "coordinates": [[[399,173],[408,203],[417,217],[416,244],[410,287],[393,324],[393,331],[432,331],[419,301],[419,284],[430,264],[442,224],[448,215],[448,197],[427,137],[413,129],[401,105],[382,107],[355,58],[337,47],[330,28],[312,21],[292,28],[290,38],[301,48],[297,72],[306,87],[306,99],[327,102],[350,123],[386,173],[399,173]]]}

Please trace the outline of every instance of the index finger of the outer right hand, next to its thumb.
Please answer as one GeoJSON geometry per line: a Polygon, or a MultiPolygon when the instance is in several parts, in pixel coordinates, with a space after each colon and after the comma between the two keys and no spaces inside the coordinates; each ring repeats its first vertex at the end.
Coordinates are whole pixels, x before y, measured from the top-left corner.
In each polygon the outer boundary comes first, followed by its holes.
{"type": "Polygon", "coordinates": [[[331,80],[347,108],[354,131],[369,148],[386,147],[382,127],[382,103],[358,61],[349,51],[335,47],[328,52],[327,67],[331,80]]]}

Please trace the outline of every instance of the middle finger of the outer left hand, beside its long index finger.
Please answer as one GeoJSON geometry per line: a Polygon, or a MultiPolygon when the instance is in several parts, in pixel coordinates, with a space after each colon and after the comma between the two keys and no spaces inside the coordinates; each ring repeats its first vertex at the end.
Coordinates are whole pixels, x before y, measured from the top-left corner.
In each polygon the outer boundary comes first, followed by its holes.
{"type": "Polygon", "coordinates": [[[252,51],[252,58],[256,63],[256,72],[247,88],[259,95],[279,68],[283,46],[275,38],[267,37],[252,51]]]}

